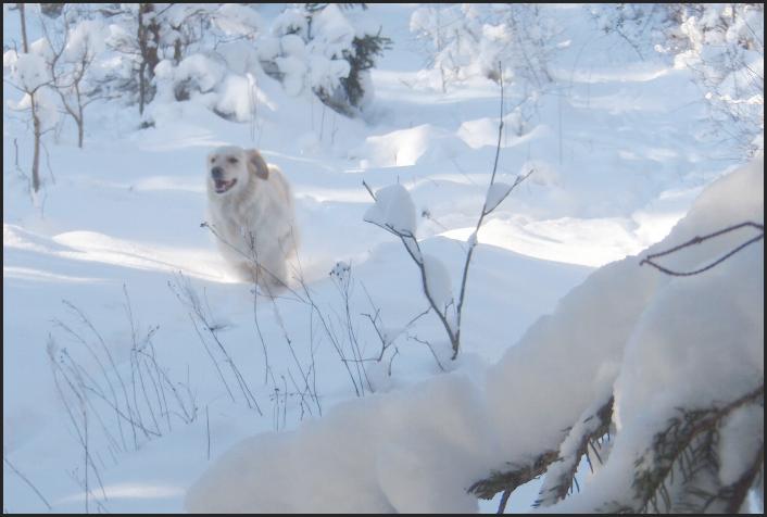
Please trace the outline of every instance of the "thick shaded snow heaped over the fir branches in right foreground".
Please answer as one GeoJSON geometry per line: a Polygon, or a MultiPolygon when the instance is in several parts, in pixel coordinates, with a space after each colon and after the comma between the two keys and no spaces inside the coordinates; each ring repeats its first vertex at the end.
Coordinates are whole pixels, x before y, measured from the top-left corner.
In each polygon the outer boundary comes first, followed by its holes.
{"type": "MultiPolygon", "coordinates": [[[[649,252],[744,219],[762,223],[762,168],[759,160],[716,181],[649,252]]],[[[668,262],[689,269],[742,240],[718,239],[668,262]]],[[[637,452],[676,405],[729,400],[764,378],[763,264],[759,242],[696,277],[671,278],[640,267],[634,256],[605,266],[533,324],[487,371],[483,386],[453,371],[349,402],[293,433],[251,438],[189,489],[186,507],[476,510],[466,492],[471,482],[558,449],[565,429],[611,392],[618,428],[613,453],[580,495],[553,508],[593,510],[619,500],[637,452]]],[[[733,451],[725,461],[728,479],[742,468],[743,450],[732,443],[722,444],[733,451]]]]}

